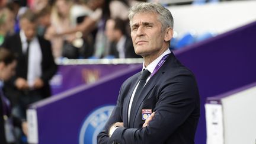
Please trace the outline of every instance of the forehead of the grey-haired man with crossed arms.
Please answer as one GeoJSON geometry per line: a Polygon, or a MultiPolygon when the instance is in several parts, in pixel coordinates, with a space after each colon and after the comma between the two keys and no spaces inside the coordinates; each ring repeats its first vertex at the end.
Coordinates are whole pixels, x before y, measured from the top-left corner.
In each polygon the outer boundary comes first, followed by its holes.
{"type": "Polygon", "coordinates": [[[130,25],[141,23],[159,23],[158,14],[155,12],[140,12],[133,16],[130,25]]]}

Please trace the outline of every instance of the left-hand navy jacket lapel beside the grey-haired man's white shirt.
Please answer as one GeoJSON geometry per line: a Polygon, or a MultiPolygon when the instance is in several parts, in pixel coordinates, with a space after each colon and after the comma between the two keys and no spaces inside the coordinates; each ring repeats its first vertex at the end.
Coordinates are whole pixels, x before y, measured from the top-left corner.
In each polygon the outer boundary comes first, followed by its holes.
{"type": "MultiPolygon", "coordinates": [[[[141,74],[140,74],[141,75],[141,74]]],[[[130,103],[130,98],[132,97],[133,90],[135,89],[137,83],[139,82],[140,75],[135,79],[135,81],[132,82],[130,91],[128,92],[127,96],[124,98],[124,110],[123,110],[123,122],[124,122],[124,127],[129,127],[129,122],[128,122],[128,110],[129,110],[129,103],[130,103]]],[[[130,113],[132,114],[132,113],[130,113]]]]}

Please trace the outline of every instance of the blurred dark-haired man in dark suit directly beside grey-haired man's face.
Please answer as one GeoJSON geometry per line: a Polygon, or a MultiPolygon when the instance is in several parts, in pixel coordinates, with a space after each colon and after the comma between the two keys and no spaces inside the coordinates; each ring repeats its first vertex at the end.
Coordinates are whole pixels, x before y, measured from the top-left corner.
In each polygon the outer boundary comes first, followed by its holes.
{"type": "Polygon", "coordinates": [[[126,23],[120,18],[107,20],[105,34],[111,43],[110,55],[116,58],[136,58],[132,39],[126,34],[126,23]]]}

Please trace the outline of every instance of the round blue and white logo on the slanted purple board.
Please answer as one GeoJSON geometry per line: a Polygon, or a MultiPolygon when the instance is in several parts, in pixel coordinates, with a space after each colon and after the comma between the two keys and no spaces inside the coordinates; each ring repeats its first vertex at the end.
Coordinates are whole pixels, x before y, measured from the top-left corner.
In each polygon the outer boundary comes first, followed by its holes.
{"type": "Polygon", "coordinates": [[[97,135],[103,130],[114,105],[107,105],[92,111],[85,119],[79,133],[79,144],[97,144],[97,135]]]}

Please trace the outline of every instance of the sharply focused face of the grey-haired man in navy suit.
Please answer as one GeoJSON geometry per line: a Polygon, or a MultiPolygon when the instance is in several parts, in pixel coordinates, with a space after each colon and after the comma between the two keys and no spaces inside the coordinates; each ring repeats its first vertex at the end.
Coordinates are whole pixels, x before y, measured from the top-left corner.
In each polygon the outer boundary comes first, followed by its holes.
{"type": "Polygon", "coordinates": [[[139,13],[130,23],[135,53],[140,56],[157,55],[164,47],[165,32],[155,13],[139,13]]]}

